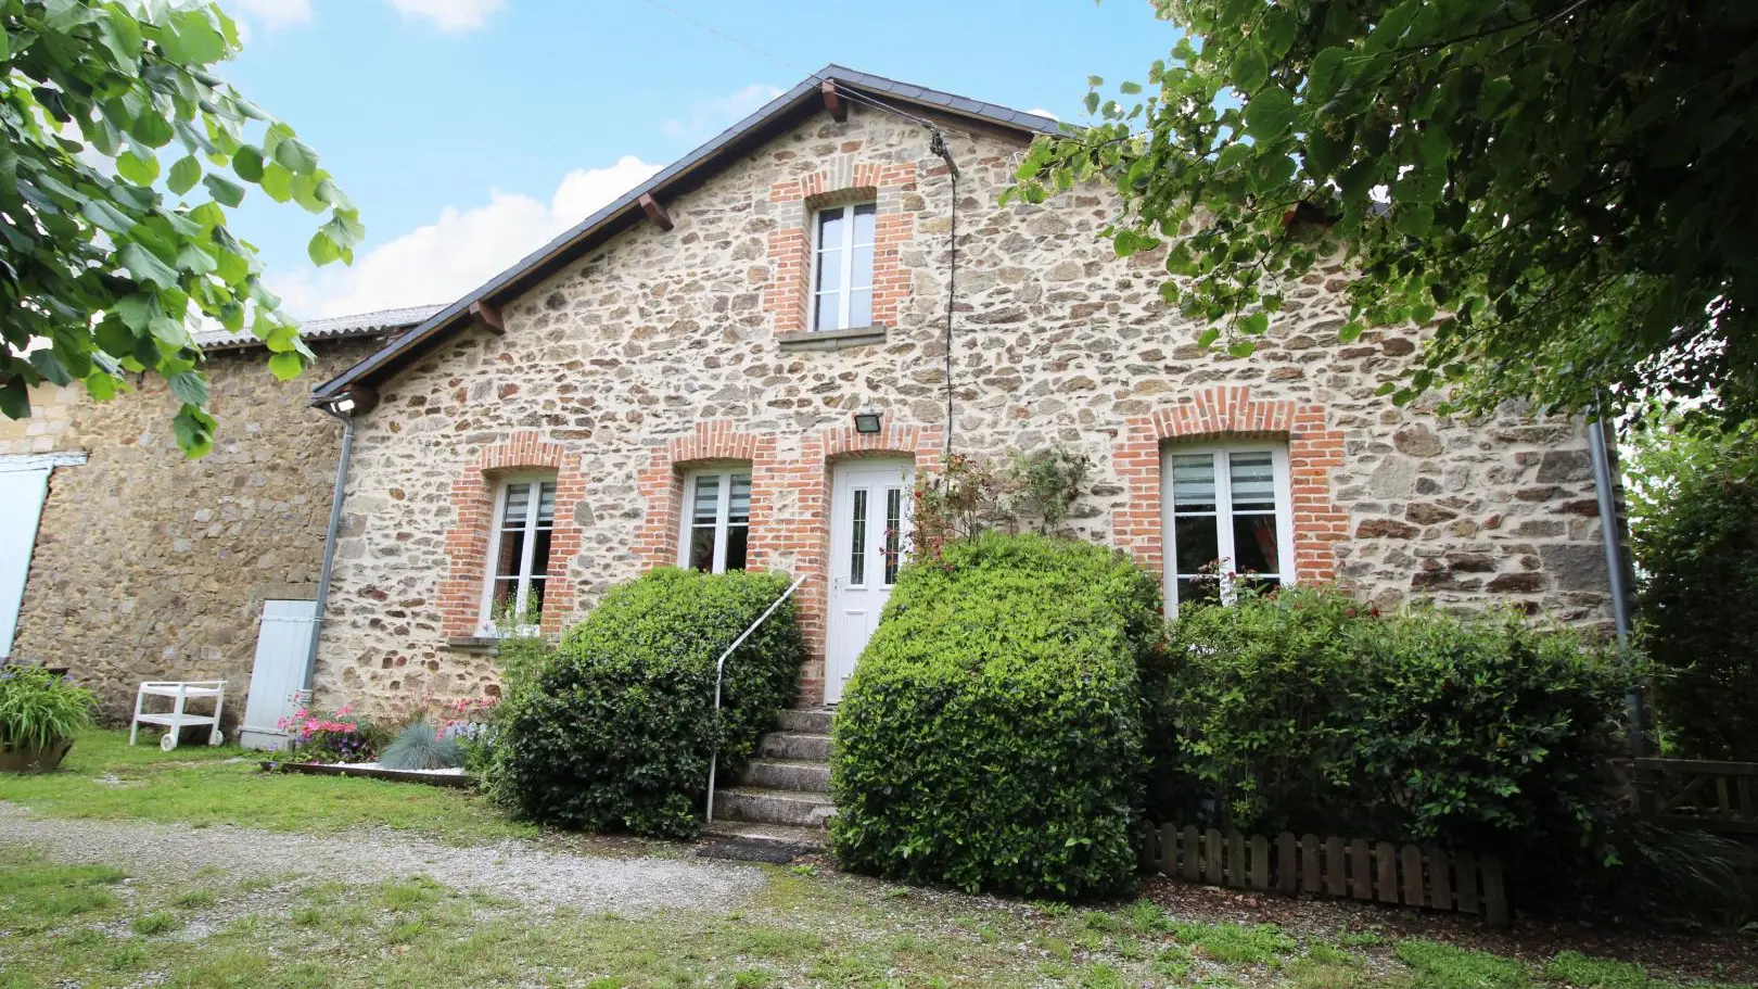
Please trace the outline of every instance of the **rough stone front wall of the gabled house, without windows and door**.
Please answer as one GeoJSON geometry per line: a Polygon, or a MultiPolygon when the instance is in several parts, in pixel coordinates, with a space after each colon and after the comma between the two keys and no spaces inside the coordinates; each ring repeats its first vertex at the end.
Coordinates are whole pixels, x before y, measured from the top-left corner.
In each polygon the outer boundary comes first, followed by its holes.
{"type": "MultiPolygon", "coordinates": [[[[1380,604],[1507,602],[1605,619],[1579,422],[1510,410],[1468,424],[1377,398],[1415,343],[1375,331],[1340,345],[1336,271],[1287,287],[1255,355],[1201,350],[1201,327],[1160,301],[1159,259],[1118,260],[1097,236],[1115,208],[1102,190],[997,208],[1020,144],[949,130],[963,172],[955,449],[1088,454],[1093,484],[1074,531],[1151,565],[1159,514],[1144,500],[1157,502],[1159,445],[1204,438],[1171,424],[1204,403],[1287,408],[1282,426],[1225,429],[1278,435],[1290,451],[1310,440],[1296,458],[1303,574],[1334,574],[1380,604]]],[[[584,479],[584,494],[557,507],[578,551],[550,568],[575,591],[570,621],[675,553],[677,472],[740,451],[756,475],[752,561],[812,574],[802,607],[821,616],[828,461],[890,451],[932,463],[944,438],[949,201],[921,127],[860,106],[846,123],[821,114],[668,202],[673,231],[642,223],[503,306],[505,336],[462,331],[381,382],[348,480],[325,699],[492,690],[492,660],[447,635],[441,582],[459,567],[448,546],[469,544],[457,530],[480,516],[454,491],[480,484],[487,447],[515,442],[559,445],[584,479]],[[789,245],[807,215],[800,195],[823,174],[891,176],[872,178],[879,223],[907,239],[895,245],[904,292],[881,341],[798,348],[786,333],[796,320],[777,292],[800,283],[789,245]],[[858,408],[884,412],[886,433],[851,442],[858,408]]],[[[816,676],[805,672],[807,693],[816,676]]]]}

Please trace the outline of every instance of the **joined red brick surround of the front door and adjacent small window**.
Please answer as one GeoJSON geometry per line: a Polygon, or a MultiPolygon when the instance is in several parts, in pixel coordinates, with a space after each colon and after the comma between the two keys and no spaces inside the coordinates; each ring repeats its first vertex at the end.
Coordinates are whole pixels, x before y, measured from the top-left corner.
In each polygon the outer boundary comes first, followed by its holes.
{"type": "Polygon", "coordinates": [[[751,537],[745,567],[805,574],[796,593],[800,626],[809,658],[800,670],[800,700],[825,699],[825,644],[830,588],[830,484],[832,472],[853,458],[914,458],[916,472],[941,466],[941,426],[898,426],[886,417],[879,433],[861,435],[839,426],[802,436],[798,454],[782,454],[774,435],[738,431],[731,421],[700,422],[687,436],[654,447],[638,487],[647,503],[636,535],[642,565],[677,565],[684,473],[705,463],[751,463],[751,537]]]}

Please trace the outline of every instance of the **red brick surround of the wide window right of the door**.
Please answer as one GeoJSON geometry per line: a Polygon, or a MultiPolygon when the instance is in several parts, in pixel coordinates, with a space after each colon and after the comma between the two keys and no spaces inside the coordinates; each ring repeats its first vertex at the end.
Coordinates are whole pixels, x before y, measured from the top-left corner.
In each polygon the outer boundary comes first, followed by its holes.
{"type": "Polygon", "coordinates": [[[1343,431],[1326,428],[1322,405],[1252,399],[1248,387],[1202,389],[1190,401],[1125,422],[1111,445],[1129,505],[1113,517],[1113,535],[1143,568],[1162,574],[1166,535],[1160,505],[1160,454],[1178,442],[1229,438],[1285,440],[1294,498],[1294,577],[1336,579],[1336,544],[1348,535],[1348,514],[1331,502],[1331,470],[1343,466],[1343,431]]]}

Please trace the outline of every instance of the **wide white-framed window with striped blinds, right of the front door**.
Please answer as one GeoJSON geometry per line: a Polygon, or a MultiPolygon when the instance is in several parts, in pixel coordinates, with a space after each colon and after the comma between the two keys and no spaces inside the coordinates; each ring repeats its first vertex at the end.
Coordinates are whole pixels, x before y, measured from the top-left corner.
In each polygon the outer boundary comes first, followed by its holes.
{"type": "Polygon", "coordinates": [[[1294,582],[1289,452],[1273,443],[1173,447],[1160,465],[1166,600],[1231,604],[1294,582]]]}

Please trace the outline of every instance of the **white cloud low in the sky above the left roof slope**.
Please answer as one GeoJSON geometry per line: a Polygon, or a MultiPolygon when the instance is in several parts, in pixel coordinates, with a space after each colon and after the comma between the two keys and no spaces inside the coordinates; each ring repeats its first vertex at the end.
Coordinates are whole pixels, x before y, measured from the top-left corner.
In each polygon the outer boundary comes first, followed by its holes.
{"type": "Polygon", "coordinates": [[[624,155],[603,169],[568,172],[548,202],[490,190],[487,204],[447,206],[436,222],[357,255],[353,267],[306,269],[271,283],[287,311],[302,319],[450,303],[656,171],[624,155]]]}

